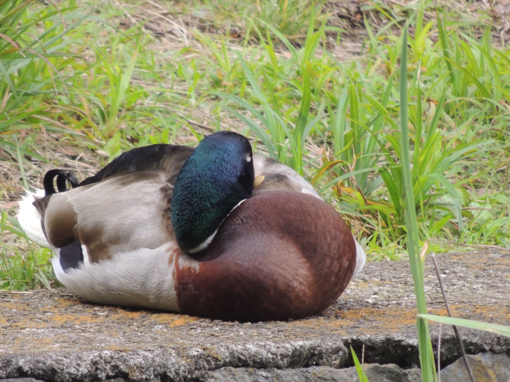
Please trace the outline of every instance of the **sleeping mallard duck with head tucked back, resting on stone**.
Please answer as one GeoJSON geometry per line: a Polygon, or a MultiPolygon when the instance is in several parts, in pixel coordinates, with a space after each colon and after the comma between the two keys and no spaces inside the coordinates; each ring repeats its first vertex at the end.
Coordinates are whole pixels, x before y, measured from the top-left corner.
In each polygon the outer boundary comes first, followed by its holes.
{"type": "Polygon", "coordinates": [[[308,182],[230,131],[195,149],[132,149],[80,184],[51,170],[44,188],[20,202],[18,220],[53,249],[58,280],[99,304],[299,318],[333,303],[365,262],[308,182]]]}

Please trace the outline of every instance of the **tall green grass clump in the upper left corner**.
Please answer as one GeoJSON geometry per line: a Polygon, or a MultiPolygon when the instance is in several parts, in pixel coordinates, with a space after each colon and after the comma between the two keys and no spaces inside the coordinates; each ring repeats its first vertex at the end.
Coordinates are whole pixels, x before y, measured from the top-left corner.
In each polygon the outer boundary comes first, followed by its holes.
{"type": "MultiPolygon", "coordinates": [[[[75,60],[73,54],[62,54],[72,41],[64,41],[64,22],[72,18],[72,7],[65,17],[56,9],[41,11],[27,17],[32,0],[0,2],[0,134],[31,129],[39,123],[48,131],[64,132],[67,129],[55,123],[55,113],[48,113],[49,104],[64,110],[71,104],[69,89],[61,72],[75,60]],[[32,35],[37,25],[52,26],[43,33],[32,35]],[[51,94],[58,95],[59,102],[51,94]]],[[[70,22],[67,31],[73,28],[70,22]]],[[[64,74],[65,75],[65,74],[64,74]]],[[[12,141],[0,139],[0,145],[8,152],[16,148],[12,141]]],[[[30,149],[21,148],[23,154],[37,155],[30,149]]],[[[42,157],[38,157],[44,160],[42,157]]]]}

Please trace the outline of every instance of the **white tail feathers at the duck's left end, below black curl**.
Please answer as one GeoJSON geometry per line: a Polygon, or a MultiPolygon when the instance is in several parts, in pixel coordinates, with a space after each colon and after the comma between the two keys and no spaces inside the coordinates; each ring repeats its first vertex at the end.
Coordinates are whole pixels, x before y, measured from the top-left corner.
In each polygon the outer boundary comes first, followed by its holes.
{"type": "Polygon", "coordinates": [[[49,243],[42,232],[41,214],[32,204],[34,201],[44,197],[44,190],[35,188],[35,193],[31,193],[26,189],[25,191],[27,195],[23,196],[19,201],[19,210],[16,216],[19,225],[29,238],[43,247],[49,247],[49,243]]]}

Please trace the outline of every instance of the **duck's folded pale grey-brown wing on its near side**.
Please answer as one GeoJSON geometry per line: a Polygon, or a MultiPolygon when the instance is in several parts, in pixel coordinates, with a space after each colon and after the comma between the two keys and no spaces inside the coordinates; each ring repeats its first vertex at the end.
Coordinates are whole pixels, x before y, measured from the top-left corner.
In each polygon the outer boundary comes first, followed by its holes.
{"type": "Polygon", "coordinates": [[[97,262],[172,240],[169,196],[165,172],[145,170],[51,195],[37,201],[36,207],[53,247],[62,249],[78,241],[90,262],[97,262]]]}

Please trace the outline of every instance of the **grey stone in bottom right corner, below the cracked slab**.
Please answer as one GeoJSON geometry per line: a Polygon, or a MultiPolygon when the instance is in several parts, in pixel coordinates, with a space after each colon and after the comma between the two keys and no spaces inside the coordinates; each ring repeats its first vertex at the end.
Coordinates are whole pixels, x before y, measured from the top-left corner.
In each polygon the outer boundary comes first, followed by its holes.
{"type": "MultiPolygon", "coordinates": [[[[468,356],[469,367],[477,382],[508,382],[510,381],[510,356],[491,352],[468,356]]],[[[458,359],[441,370],[442,382],[469,381],[469,374],[464,360],[458,359]]]]}

